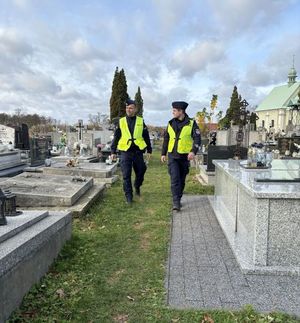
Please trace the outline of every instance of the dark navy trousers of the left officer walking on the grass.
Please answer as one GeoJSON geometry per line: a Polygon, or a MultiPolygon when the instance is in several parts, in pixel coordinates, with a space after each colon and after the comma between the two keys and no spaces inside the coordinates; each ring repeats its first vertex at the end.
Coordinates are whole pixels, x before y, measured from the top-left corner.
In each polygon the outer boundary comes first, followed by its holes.
{"type": "Polygon", "coordinates": [[[144,162],[143,152],[121,151],[121,170],[123,174],[123,189],[126,197],[132,197],[131,173],[132,168],[135,172],[134,187],[139,188],[144,181],[147,167],[144,162]]]}

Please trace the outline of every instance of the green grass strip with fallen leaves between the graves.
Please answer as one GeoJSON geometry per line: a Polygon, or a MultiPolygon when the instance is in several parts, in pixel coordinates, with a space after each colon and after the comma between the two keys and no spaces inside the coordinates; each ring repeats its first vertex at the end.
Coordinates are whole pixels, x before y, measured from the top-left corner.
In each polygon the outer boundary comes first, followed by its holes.
{"type": "MultiPolygon", "coordinates": [[[[186,193],[212,194],[187,178],[186,193]]],[[[164,279],[171,227],[167,166],[154,152],[142,196],[125,204],[122,181],[89,212],[73,220],[67,242],[49,273],[26,295],[9,322],[299,322],[280,314],[174,310],[164,279]]]]}

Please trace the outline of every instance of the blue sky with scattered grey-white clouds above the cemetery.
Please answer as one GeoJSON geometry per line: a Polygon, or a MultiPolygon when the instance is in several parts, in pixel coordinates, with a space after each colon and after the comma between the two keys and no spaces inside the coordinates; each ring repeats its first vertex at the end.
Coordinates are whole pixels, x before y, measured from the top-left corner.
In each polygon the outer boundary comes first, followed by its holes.
{"type": "Polygon", "coordinates": [[[300,74],[299,0],[0,0],[0,112],[60,122],[109,113],[116,66],[147,124],[190,116],[233,86],[250,106],[300,74]]]}

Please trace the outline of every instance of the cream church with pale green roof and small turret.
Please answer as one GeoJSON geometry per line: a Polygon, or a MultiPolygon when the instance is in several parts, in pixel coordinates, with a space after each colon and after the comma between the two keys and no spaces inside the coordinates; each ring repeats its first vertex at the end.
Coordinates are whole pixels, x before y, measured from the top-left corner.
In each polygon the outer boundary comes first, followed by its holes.
{"type": "Polygon", "coordinates": [[[291,103],[298,100],[300,82],[296,82],[297,72],[294,66],[288,74],[288,83],[276,86],[260,103],[255,112],[259,117],[258,126],[267,130],[272,127],[275,131],[286,130],[289,120],[292,120],[291,103]]]}

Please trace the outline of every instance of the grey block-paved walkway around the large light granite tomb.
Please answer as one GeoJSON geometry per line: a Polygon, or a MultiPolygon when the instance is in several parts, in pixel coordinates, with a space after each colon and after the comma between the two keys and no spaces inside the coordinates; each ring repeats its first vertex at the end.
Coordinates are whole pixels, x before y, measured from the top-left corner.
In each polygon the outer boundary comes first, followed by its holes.
{"type": "Polygon", "coordinates": [[[282,311],[300,316],[300,277],[243,274],[205,196],[185,195],[173,213],[167,275],[175,308],[282,311]]]}

